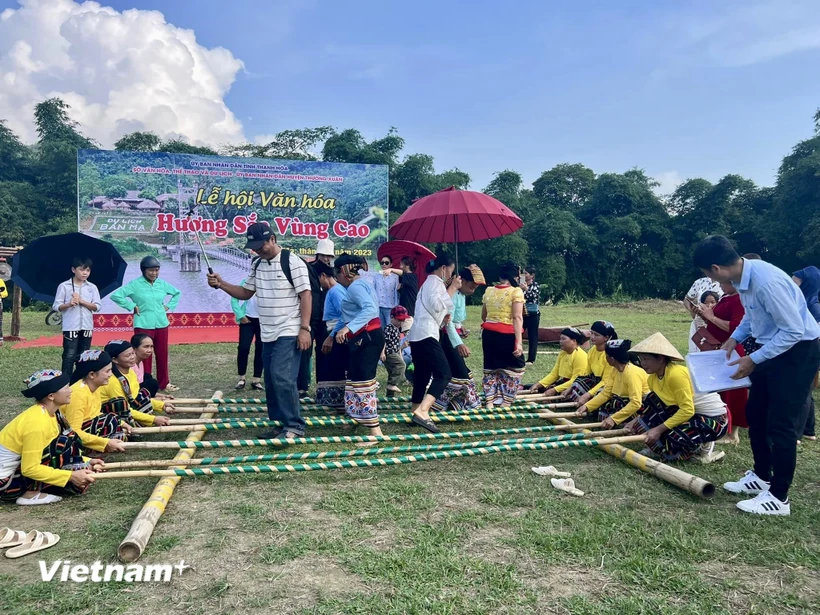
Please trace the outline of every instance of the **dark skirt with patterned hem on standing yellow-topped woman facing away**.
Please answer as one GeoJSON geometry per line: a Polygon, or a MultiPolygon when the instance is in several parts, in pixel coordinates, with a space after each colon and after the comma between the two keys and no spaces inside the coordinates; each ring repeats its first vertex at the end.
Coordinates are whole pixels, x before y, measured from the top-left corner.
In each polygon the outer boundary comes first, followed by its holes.
{"type": "Polygon", "coordinates": [[[481,333],[484,350],[484,400],[487,405],[510,406],[521,388],[524,376],[524,355],[513,356],[515,335],[484,329],[481,333]]]}

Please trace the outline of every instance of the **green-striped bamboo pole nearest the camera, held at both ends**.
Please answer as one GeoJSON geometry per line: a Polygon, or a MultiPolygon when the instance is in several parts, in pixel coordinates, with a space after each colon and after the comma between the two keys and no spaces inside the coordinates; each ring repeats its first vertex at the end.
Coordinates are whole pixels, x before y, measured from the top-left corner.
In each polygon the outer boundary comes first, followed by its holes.
{"type": "Polygon", "coordinates": [[[114,478],[144,478],[144,477],[182,477],[182,476],[216,476],[218,474],[264,474],[311,472],[315,470],[336,470],[346,468],[373,468],[379,466],[395,466],[419,461],[434,461],[437,459],[451,459],[454,457],[479,457],[493,453],[508,451],[538,451],[575,447],[598,447],[614,444],[628,444],[643,441],[643,436],[621,436],[618,438],[603,438],[600,440],[567,440],[563,442],[540,442],[521,444],[513,441],[509,444],[497,444],[482,448],[467,448],[463,450],[439,451],[418,453],[406,457],[388,457],[377,459],[345,459],[342,461],[322,461],[317,463],[298,463],[263,466],[213,466],[208,468],[173,468],[168,470],[132,470],[128,472],[102,472],[97,474],[99,479],[114,478]]]}

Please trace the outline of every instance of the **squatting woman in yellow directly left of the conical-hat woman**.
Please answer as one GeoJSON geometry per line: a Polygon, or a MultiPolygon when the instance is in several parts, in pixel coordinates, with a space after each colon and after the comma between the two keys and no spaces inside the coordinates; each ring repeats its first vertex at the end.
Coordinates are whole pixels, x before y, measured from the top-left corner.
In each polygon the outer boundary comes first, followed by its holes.
{"type": "Polygon", "coordinates": [[[582,404],[578,416],[598,413],[601,427],[612,429],[630,418],[643,406],[643,398],[649,393],[647,373],[630,362],[630,340],[610,340],[604,346],[604,356],[612,368],[612,376],[604,390],[582,404]]]}

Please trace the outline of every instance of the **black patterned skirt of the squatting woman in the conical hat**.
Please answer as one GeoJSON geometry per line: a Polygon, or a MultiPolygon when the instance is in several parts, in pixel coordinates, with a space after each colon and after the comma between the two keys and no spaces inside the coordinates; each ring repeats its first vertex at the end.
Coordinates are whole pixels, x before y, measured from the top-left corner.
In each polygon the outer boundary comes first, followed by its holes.
{"type": "MultiPolygon", "coordinates": [[[[667,406],[660,397],[650,391],[649,395],[644,398],[643,407],[638,412],[638,419],[635,423],[637,433],[646,433],[653,427],[657,427],[677,411],[677,406],[667,406]]],[[[728,429],[728,414],[721,416],[695,414],[685,423],[667,431],[649,448],[666,461],[685,461],[697,453],[703,444],[720,440],[726,435],[728,429]]]]}

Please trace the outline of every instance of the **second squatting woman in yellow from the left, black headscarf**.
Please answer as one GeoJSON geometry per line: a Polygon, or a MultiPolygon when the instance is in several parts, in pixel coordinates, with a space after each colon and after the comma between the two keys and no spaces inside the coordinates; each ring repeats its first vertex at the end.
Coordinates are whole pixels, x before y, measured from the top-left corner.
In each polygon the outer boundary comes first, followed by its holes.
{"type": "Polygon", "coordinates": [[[131,426],[120,422],[113,413],[102,412],[100,387],[111,378],[111,357],[102,350],[86,350],[77,360],[71,376],[71,402],[60,408],[60,412],[79,432],[103,442],[106,453],[124,452],[122,441],[131,432],[131,426]]]}

